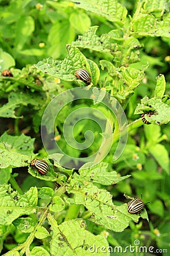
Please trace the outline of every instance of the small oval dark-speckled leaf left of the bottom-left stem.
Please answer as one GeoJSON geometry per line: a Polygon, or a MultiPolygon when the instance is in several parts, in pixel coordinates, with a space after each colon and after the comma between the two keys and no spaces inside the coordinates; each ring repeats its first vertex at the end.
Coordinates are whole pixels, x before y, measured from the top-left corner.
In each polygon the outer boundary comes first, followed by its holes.
{"type": "Polygon", "coordinates": [[[18,228],[23,233],[31,233],[35,227],[35,221],[32,218],[17,218],[12,222],[16,228],[18,228]]]}

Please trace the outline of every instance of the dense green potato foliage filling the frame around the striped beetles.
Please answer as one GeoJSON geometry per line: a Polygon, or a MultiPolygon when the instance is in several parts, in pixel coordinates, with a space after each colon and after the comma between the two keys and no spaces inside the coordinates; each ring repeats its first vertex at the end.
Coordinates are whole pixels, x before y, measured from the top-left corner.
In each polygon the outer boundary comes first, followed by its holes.
{"type": "Polygon", "coordinates": [[[1,0],[0,16],[1,254],[91,255],[95,244],[105,247],[105,255],[120,255],[115,246],[124,250],[130,245],[135,251],[128,249],[127,255],[168,255],[169,1],[1,0]],[[75,126],[74,137],[83,142],[90,129],[94,144],[83,151],[67,145],[63,124],[77,108],[100,109],[114,135],[103,162],[73,171],[67,159],[61,159],[64,168],[49,158],[40,125],[54,97],[86,86],[74,76],[84,67],[91,75],[89,87],[120,102],[129,123],[128,142],[113,162],[120,135],[114,116],[94,101],[69,104],[54,129],[66,154],[90,156],[101,143],[100,127],[85,119],[75,126]],[[11,76],[4,76],[6,69],[11,76]],[[141,121],[143,113],[150,125],[141,121]],[[48,162],[47,175],[29,166],[33,158],[48,162]],[[124,193],[139,198],[142,193],[143,201],[151,203],[140,215],[130,214],[124,193]],[[139,246],[146,246],[147,253],[139,246]]]}

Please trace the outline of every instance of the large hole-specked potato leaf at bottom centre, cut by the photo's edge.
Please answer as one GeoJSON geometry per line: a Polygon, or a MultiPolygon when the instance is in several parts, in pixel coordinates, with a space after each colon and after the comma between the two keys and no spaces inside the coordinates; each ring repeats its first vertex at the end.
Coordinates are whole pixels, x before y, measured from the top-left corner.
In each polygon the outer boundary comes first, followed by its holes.
{"type": "Polygon", "coordinates": [[[105,247],[104,255],[110,255],[107,250],[108,241],[104,234],[95,236],[87,231],[84,220],[70,220],[57,225],[56,220],[50,217],[49,223],[53,230],[50,243],[50,253],[52,255],[91,255],[91,250],[94,250],[92,246],[95,246],[94,255],[101,255],[100,248],[102,246],[105,247]],[[74,233],[76,234],[76,240],[73,236],[74,233]],[[96,250],[97,246],[99,246],[98,250],[96,250]]]}

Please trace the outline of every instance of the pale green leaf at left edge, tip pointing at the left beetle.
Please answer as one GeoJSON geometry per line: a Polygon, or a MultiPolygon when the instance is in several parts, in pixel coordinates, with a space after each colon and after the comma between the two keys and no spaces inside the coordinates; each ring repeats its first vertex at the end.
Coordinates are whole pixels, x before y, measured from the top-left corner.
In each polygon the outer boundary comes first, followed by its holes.
{"type": "Polygon", "coordinates": [[[6,150],[5,144],[0,144],[1,168],[28,166],[30,158],[15,151],[6,150]]]}

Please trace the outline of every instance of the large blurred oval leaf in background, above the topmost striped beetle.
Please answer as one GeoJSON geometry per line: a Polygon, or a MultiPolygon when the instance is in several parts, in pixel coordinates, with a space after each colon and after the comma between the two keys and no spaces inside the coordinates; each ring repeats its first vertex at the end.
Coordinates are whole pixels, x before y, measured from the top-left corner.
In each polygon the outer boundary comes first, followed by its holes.
{"type": "Polygon", "coordinates": [[[52,56],[55,59],[61,55],[65,56],[67,53],[65,45],[71,43],[74,38],[75,30],[70,26],[69,20],[58,19],[49,31],[48,56],[52,56]]]}

